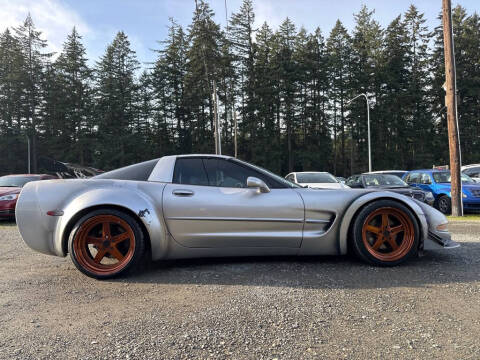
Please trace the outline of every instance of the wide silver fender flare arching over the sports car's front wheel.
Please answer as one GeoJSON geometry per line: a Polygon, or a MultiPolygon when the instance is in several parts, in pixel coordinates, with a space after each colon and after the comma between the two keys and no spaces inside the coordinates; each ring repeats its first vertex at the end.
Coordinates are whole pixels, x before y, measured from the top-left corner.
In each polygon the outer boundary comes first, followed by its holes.
{"type": "Polygon", "coordinates": [[[355,220],[355,215],[357,212],[368,203],[378,200],[394,200],[402,203],[412,210],[414,216],[416,216],[419,227],[420,227],[420,247],[422,247],[423,242],[428,236],[428,223],[422,208],[411,198],[396,194],[394,192],[388,191],[374,191],[368,194],[362,195],[353,201],[348,207],[347,211],[343,215],[342,224],[340,225],[338,247],[340,254],[344,255],[348,250],[348,233],[350,230],[350,225],[352,221],[355,220]]]}

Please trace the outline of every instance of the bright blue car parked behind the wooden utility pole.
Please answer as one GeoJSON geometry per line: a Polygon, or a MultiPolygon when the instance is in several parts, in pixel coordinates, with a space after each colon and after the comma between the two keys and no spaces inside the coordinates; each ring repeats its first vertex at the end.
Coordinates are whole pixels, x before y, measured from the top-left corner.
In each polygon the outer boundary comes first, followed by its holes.
{"type": "MultiPolygon", "coordinates": [[[[430,191],[435,197],[434,206],[444,214],[452,211],[450,171],[448,170],[414,170],[403,176],[403,180],[411,186],[430,191]]],[[[462,174],[463,209],[480,210],[480,184],[468,175],[462,174]]]]}

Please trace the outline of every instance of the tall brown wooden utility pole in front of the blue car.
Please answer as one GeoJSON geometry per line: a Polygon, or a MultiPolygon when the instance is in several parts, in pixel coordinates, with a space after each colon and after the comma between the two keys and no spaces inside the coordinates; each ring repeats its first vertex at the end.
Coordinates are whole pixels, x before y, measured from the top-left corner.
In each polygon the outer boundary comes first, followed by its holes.
{"type": "Polygon", "coordinates": [[[452,3],[451,0],[442,1],[446,78],[445,106],[447,107],[448,147],[450,150],[452,216],[463,216],[462,181],[460,177],[460,140],[457,119],[457,79],[452,29],[452,3]]]}

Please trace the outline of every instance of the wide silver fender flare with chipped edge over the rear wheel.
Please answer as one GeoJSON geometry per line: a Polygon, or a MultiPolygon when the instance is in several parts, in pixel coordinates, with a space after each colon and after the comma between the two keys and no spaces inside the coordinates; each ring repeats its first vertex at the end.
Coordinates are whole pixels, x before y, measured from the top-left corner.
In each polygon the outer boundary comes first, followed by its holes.
{"type": "Polygon", "coordinates": [[[64,241],[68,240],[68,234],[65,234],[65,231],[73,225],[72,220],[76,220],[80,212],[99,206],[114,206],[124,208],[140,219],[150,238],[152,257],[164,253],[168,246],[166,227],[163,222],[161,202],[158,206],[155,204],[153,199],[139,189],[99,187],[87,190],[69,201],[63,209],[63,216],[55,230],[55,252],[58,255],[66,255],[64,241]]]}

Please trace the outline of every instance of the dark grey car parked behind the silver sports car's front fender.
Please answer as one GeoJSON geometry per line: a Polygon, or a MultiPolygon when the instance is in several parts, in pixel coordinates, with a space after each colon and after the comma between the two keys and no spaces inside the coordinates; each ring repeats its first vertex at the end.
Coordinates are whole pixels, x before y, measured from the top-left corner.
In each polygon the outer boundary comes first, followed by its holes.
{"type": "Polygon", "coordinates": [[[435,198],[430,191],[412,187],[395,175],[387,174],[361,174],[353,175],[347,179],[346,184],[351,188],[379,189],[393,191],[433,205],[435,198]]]}

